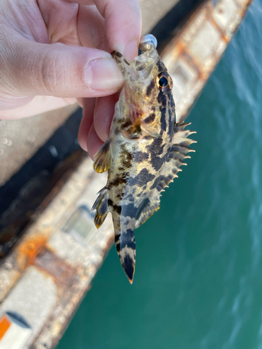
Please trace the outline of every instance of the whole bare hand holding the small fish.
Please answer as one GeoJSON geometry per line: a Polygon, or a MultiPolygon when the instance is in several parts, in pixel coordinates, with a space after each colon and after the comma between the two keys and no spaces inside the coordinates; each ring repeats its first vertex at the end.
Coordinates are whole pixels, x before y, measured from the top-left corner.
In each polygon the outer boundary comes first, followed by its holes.
{"type": "Polygon", "coordinates": [[[109,52],[133,59],[140,36],[138,0],[1,0],[0,119],[78,101],[78,140],[93,158],[124,82],[109,52]]]}

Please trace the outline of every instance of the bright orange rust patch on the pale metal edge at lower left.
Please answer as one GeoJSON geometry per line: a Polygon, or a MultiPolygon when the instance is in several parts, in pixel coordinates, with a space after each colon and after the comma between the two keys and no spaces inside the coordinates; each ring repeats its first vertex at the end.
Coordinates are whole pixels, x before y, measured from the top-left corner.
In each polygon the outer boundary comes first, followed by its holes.
{"type": "Polygon", "coordinates": [[[41,253],[48,242],[48,236],[35,236],[26,239],[17,248],[17,262],[20,268],[34,263],[36,256],[41,253]]]}

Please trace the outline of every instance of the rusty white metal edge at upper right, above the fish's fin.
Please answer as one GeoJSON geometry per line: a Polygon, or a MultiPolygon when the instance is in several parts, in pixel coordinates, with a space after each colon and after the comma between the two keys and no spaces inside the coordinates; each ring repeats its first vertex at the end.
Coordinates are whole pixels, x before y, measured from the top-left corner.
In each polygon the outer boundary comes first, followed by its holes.
{"type": "Polygon", "coordinates": [[[173,78],[177,121],[189,114],[250,3],[251,0],[203,3],[161,52],[173,78]]]}

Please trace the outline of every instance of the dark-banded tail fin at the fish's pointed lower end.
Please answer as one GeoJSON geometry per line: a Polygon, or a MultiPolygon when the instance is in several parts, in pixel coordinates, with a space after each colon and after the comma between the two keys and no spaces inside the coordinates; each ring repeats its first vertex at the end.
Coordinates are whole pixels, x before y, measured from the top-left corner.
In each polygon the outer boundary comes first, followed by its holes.
{"type": "Polygon", "coordinates": [[[126,276],[129,278],[129,282],[133,283],[133,274],[135,273],[136,265],[136,241],[135,235],[133,235],[133,229],[126,225],[126,230],[120,228],[119,218],[120,216],[112,214],[115,228],[115,247],[117,248],[117,254],[122,264],[126,276]],[[120,232],[120,233],[119,233],[120,232]]]}

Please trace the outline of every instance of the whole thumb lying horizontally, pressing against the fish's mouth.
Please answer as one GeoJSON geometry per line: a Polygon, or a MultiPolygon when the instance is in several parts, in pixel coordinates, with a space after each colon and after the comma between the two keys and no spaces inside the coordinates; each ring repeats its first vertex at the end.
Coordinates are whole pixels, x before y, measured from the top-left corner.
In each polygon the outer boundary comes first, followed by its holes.
{"type": "Polygon", "coordinates": [[[108,52],[29,40],[15,46],[6,50],[1,72],[0,89],[6,94],[96,97],[122,87],[122,74],[108,52]]]}

